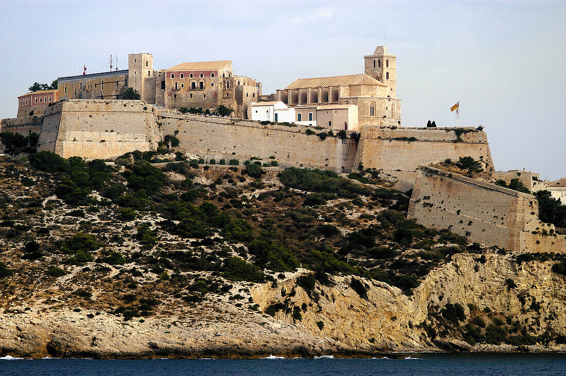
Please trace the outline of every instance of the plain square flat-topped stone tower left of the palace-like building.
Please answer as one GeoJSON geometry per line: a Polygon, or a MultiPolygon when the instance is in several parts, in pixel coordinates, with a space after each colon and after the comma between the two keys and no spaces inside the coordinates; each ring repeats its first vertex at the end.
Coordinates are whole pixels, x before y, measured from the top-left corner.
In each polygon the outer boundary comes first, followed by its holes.
{"type": "Polygon", "coordinates": [[[145,103],[155,103],[152,54],[128,55],[128,87],[138,90],[145,103]]]}

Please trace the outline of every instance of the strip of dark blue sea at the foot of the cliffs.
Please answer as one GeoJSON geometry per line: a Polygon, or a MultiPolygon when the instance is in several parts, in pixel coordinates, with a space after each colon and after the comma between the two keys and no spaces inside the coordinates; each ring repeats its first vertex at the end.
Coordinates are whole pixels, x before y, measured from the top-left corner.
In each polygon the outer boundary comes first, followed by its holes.
{"type": "MultiPolygon", "coordinates": [[[[398,355],[397,355],[398,356],[398,355]]],[[[93,360],[0,358],[0,375],[566,375],[564,354],[402,355],[400,359],[93,360]]]]}

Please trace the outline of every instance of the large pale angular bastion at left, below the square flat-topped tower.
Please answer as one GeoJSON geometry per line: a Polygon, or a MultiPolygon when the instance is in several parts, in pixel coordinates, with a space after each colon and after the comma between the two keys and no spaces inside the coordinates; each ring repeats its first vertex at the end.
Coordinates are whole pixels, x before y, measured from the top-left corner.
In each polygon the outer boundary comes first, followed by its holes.
{"type": "Polygon", "coordinates": [[[155,150],[161,140],[155,107],[141,101],[69,100],[50,107],[38,150],[64,158],[118,157],[132,150],[155,150]]]}

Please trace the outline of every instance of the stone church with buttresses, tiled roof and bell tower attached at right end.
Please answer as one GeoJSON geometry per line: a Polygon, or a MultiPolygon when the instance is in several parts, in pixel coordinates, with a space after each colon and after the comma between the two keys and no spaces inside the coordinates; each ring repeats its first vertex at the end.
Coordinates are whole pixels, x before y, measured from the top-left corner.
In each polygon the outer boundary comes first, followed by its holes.
{"type": "Polygon", "coordinates": [[[277,90],[275,100],[289,106],[357,105],[359,126],[400,126],[397,57],[378,46],[364,60],[362,74],[298,79],[277,90]]]}

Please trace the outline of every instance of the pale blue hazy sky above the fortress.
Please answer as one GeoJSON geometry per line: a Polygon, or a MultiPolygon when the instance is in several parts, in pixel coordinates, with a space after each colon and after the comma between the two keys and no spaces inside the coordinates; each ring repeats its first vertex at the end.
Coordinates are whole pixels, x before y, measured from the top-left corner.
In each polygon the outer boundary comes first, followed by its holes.
{"type": "Polygon", "coordinates": [[[363,73],[363,56],[397,55],[401,122],[483,126],[496,170],[566,176],[566,1],[0,0],[0,118],[34,82],[233,60],[263,93],[295,79],[363,73]],[[115,64],[114,64],[115,67],[115,64]]]}

